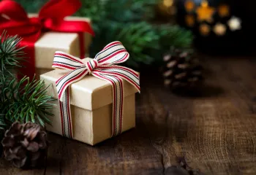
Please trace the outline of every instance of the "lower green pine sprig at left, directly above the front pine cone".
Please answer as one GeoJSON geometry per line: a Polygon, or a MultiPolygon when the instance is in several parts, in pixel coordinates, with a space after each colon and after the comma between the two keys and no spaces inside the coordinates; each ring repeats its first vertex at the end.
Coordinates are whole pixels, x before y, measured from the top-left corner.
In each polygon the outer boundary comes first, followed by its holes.
{"type": "Polygon", "coordinates": [[[53,107],[48,102],[53,98],[46,95],[47,88],[44,82],[23,77],[19,82],[16,79],[6,79],[1,88],[1,111],[5,115],[5,120],[20,123],[39,123],[44,126],[50,124],[49,116],[53,116],[47,110],[53,107]]]}

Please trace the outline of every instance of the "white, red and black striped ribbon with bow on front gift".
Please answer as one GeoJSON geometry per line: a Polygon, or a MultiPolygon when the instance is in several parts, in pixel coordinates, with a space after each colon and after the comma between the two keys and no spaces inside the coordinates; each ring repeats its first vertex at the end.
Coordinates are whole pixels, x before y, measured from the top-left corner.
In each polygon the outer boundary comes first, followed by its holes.
{"type": "Polygon", "coordinates": [[[113,63],[123,63],[129,58],[129,53],[121,42],[108,44],[94,59],[83,63],[80,58],[76,58],[64,52],[56,52],[54,55],[53,68],[66,69],[66,75],[56,81],[59,104],[61,109],[62,135],[73,137],[72,117],[69,104],[69,85],[78,82],[87,74],[110,82],[113,90],[113,117],[112,136],[121,133],[122,117],[124,107],[124,83],[123,79],[134,85],[140,92],[139,74],[124,66],[113,65],[113,63]]]}

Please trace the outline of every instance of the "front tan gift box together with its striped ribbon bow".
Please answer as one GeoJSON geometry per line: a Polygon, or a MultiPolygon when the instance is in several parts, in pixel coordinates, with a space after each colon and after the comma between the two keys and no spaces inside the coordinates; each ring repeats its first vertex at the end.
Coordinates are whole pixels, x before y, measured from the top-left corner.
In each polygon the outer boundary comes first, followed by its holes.
{"type": "Polygon", "coordinates": [[[56,52],[56,70],[40,76],[49,95],[59,98],[48,131],[94,145],[134,128],[139,74],[114,65],[128,58],[121,42],[108,44],[94,59],[56,52]]]}

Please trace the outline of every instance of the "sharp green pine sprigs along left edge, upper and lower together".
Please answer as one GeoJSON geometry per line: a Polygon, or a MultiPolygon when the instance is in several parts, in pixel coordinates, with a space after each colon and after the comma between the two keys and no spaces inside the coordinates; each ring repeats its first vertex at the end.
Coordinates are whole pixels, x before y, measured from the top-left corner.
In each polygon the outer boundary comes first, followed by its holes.
{"type": "Polygon", "coordinates": [[[25,61],[21,39],[7,36],[4,31],[0,36],[0,129],[8,128],[13,122],[33,122],[44,126],[50,123],[48,116],[53,116],[48,109],[53,107],[51,96],[46,94],[44,82],[23,77],[18,80],[15,71],[25,61]]]}

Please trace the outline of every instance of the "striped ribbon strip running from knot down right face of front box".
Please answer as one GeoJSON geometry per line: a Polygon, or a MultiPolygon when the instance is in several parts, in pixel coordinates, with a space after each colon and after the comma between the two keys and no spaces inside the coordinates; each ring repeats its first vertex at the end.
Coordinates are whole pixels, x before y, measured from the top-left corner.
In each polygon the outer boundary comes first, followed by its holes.
{"type": "Polygon", "coordinates": [[[94,77],[110,82],[113,92],[112,136],[122,133],[124,109],[124,82],[120,77],[92,73],[94,77]]]}

